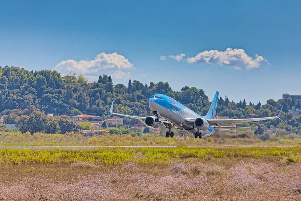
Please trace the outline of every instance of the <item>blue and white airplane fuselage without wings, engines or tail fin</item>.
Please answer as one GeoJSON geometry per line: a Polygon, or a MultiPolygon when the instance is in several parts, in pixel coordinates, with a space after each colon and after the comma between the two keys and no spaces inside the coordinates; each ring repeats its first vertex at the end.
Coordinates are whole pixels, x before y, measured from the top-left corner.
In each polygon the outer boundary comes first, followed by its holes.
{"type": "MultiPolygon", "coordinates": [[[[187,122],[186,119],[195,119],[202,117],[186,106],[180,104],[175,99],[163,94],[155,94],[150,97],[149,108],[153,112],[156,112],[160,117],[163,117],[172,122],[175,128],[188,131],[191,134],[197,132],[197,128],[187,122]]],[[[203,136],[208,136],[213,134],[214,131],[214,127],[209,126],[209,129],[200,132],[202,132],[203,136]]]]}

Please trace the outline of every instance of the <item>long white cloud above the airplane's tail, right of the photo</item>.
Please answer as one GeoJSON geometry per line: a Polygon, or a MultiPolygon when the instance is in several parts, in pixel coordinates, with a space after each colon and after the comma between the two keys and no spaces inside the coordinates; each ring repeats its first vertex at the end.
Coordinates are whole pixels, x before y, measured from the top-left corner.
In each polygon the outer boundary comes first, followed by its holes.
{"type": "Polygon", "coordinates": [[[226,51],[210,50],[197,54],[195,57],[186,59],[188,63],[206,62],[220,66],[234,66],[237,70],[258,68],[262,61],[268,62],[265,58],[255,55],[255,59],[246,54],[243,49],[227,48],[226,51]]]}

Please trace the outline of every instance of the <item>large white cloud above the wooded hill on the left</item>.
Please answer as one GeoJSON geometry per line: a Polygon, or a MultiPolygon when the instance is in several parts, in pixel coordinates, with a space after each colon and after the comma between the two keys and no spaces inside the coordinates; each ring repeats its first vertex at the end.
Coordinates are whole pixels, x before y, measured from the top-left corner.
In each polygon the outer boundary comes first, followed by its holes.
{"type": "Polygon", "coordinates": [[[128,61],[123,55],[112,53],[100,53],[94,60],[80,60],[75,61],[68,59],[58,63],[55,68],[56,71],[65,74],[66,71],[74,71],[77,74],[94,75],[103,74],[104,71],[109,71],[116,79],[123,79],[130,75],[129,72],[123,72],[122,70],[134,69],[134,65],[128,61]]]}

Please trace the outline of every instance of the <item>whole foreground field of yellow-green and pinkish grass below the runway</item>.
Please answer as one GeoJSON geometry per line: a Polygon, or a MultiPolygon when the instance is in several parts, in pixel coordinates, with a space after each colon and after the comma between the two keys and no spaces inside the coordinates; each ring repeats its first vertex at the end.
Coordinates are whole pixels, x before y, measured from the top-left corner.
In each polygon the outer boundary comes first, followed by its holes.
{"type": "Polygon", "coordinates": [[[301,148],[0,151],[0,200],[300,200],[301,148]]]}

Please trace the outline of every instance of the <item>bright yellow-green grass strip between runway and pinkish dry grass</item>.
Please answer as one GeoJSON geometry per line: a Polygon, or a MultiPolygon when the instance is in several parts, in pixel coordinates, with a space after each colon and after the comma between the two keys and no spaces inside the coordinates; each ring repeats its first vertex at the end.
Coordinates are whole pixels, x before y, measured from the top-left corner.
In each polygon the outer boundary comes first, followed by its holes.
{"type": "Polygon", "coordinates": [[[213,158],[283,158],[287,163],[301,161],[301,148],[101,148],[95,150],[28,150],[2,149],[0,163],[71,163],[87,161],[103,165],[124,162],[169,164],[186,159],[211,160],[213,158]]]}

